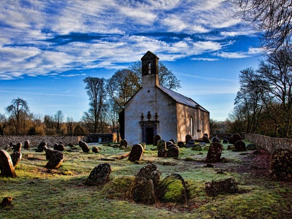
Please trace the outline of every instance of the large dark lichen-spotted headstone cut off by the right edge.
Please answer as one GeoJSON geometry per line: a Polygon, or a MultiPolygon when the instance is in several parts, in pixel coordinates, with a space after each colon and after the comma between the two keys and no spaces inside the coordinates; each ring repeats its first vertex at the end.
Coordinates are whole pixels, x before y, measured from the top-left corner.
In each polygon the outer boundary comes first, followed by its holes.
{"type": "Polygon", "coordinates": [[[275,180],[292,178],[292,150],[287,148],[274,150],[270,160],[270,177],[275,180]]]}

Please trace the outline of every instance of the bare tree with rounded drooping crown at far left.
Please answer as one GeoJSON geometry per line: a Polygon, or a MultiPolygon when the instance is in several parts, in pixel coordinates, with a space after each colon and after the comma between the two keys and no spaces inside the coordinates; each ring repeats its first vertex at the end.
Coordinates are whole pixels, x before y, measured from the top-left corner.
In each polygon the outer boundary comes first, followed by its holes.
{"type": "Polygon", "coordinates": [[[14,98],[12,99],[10,105],[5,107],[5,110],[9,114],[9,117],[13,118],[13,124],[15,126],[15,135],[19,135],[20,116],[21,114],[27,114],[29,112],[27,101],[21,98],[14,98]]]}

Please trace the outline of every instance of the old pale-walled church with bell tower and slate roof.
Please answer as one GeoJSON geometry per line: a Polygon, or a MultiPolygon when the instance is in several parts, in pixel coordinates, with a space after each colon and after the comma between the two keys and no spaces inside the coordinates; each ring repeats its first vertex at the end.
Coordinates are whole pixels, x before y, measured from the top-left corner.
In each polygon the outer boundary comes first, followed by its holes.
{"type": "Polygon", "coordinates": [[[129,144],[153,144],[154,136],[185,141],[210,136],[210,113],[191,98],[159,85],[158,60],[152,52],[142,60],[142,87],[125,103],[125,139],[129,144]]]}

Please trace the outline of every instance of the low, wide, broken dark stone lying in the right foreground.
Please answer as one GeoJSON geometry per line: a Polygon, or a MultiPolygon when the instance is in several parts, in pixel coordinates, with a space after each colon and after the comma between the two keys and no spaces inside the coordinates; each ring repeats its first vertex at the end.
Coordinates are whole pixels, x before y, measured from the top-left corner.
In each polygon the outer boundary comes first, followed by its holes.
{"type": "Polygon", "coordinates": [[[205,183],[206,193],[211,196],[215,196],[219,193],[237,193],[238,187],[235,179],[228,178],[225,180],[218,180],[205,183]]]}

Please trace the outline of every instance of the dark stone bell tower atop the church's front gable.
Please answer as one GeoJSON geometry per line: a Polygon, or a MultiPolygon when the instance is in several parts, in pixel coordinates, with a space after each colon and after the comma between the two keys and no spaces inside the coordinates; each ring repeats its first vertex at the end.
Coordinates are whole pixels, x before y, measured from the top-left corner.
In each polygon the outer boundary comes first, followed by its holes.
{"type": "Polygon", "coordinates": [[[142,61],[142,87],[154,87],[159,85],[158,60],[154,53],[147,51],[141,58],[142,61]]]}

